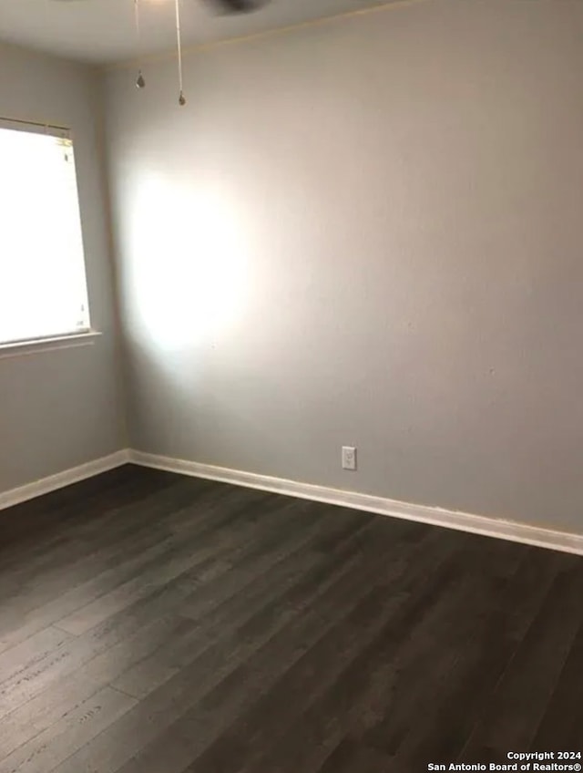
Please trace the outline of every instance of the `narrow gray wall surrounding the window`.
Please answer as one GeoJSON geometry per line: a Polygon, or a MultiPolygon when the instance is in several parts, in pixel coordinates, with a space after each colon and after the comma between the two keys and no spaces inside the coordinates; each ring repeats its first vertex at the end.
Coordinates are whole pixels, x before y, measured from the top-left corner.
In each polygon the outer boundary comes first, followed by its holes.
{"type": "MultiPolygon", "coordinates": [[[[0,491],[126,445],[97,131],[99,93],[99,76],[86,67],[0,46],[0,116],[73,129],[91,317],[103,332],[94,345],[0,358],[0,491]]],[[[1,218],[0,213],[0,227],[1,218]]]]}

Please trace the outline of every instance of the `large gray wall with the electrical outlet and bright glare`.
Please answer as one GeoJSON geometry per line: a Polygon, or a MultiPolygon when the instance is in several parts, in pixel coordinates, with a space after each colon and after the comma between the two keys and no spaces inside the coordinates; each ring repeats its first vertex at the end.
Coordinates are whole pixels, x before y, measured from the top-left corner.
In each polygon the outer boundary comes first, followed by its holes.
{"type": "Polygon", "coordinates": [[[583,531],[582,39],[435,0],[190,55],[182,109],[110,72],[132,445],[583,531]]]}

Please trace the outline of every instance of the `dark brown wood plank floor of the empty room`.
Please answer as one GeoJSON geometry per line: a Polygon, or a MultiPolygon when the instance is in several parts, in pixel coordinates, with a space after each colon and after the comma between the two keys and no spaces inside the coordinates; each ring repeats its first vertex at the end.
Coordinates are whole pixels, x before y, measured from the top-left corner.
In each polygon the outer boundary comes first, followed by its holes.
{"type": "Polygon", "coordinates": [[[131,466],[0,513],[0,773],[581,749],[583,559],[131,466]]]}

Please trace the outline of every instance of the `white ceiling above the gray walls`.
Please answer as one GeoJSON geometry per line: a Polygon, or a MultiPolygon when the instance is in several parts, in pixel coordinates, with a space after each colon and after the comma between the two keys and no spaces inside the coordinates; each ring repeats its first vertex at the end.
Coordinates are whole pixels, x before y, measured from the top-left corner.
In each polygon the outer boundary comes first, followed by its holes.
{"type": "MultiPolygon", "coordinates": [[[[389,0],[389,2],[398,0],[389,0]]],[[[219,15],[209,0],[180,0],[185,46],[265,32],[387,0],[271,0],[246,15],[219,15]]],[[[139,0],[142,54],[176,43],[173,0],[139,0]]],[[[0,41],[96,64],[137,56],[134,0],[0,0],[0,41]]]]}

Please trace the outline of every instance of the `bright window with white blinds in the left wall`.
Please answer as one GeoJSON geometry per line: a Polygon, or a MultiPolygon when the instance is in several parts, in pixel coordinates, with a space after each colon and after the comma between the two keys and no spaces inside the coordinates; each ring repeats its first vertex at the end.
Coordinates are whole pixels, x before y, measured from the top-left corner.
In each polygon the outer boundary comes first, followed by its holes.
{"type": "Polygon", "coordinates": [[[86,333],[73,143],[0,123],[0,345],[86,333]]]}

